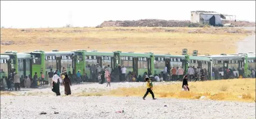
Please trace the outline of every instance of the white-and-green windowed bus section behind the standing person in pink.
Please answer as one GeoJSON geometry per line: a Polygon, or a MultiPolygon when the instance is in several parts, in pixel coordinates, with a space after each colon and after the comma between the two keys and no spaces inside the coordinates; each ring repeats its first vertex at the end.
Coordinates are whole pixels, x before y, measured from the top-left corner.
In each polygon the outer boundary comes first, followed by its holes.
{"type": "Polygon", "coordinates": [[[89,79],[92,79],[93,77],[91,76],[91,69],[90,66],[93,64],[97,64],[101,66],[108,66],[110,72],[113,70],[113,53],[112,52],[101,52],[97,50],[91,50],[91,51],[86,51],[85,52],[85,61],[86,61],[86,73],[89,79]]]}

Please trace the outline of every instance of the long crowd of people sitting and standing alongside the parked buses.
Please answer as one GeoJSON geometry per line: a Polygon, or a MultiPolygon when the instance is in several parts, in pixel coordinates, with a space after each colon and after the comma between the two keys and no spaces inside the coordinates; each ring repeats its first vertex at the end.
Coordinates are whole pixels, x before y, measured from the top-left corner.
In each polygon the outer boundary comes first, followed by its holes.
{"type": "MultiPolygon", "coordinates": [[[[170,70],[165,67],[159,74],[155,74],[154,76],[150,73],[144,72],[144,75],[136,75],[136,72],[129,71],[127,72],[127,69],[124,65],[116,65],[116,68],[113,70],[110,68],[110,65],[106,66],[103,64],[102,68],[99,66],[99,64],[93,64],[90,66],[90,78],[87,76],[87,73],[81,74],[80,70],[78,70],[76,73],[73,71],[73,75],[70,71],[67,72],[65,66],[62,67],[61,72],[60,70],[52,71],[52,69],[47,73],[47,76],[44,76],[44,73],[40,72],[39,74],[37,72],[34,73],[33,77],[29,76],[20,76],[18,73],[15,72],[15,69],[13,69],[13,73],[10,73],[8,77],[2,77],[1,79],[1,86],[3,87],[1,90],[5,90],[5,87],[8,87],[9,91],[13,91],[13,88],[15,88],[15,91],[20,90],[21,87],[27,87],[27,88],[37,88],[38,86],[44,86],[45,80],[48,79],[48,88],[52,88],[55,92],[58,92],[57,88],[58,85],[62,84],[67,89],[68,85],[71,85],[71,82],[75,82],[77,84],[80,84],[81,82],[97,82],[99,84],[106,83],[106,86],[110,86],[110,82],[122,82],[122,81],[145,81],[145,78],[150,78],[151,81],[183,81],[184,78],[190,80],[190,81],[204,81],[208,80],[211,76],[215,77],[215,79],[232,79],[232,78],[243,78],[243,77],[251,77],[255,78],[255,70],[250,68],[247,72],[245,72],[244,68],[237,69],[236,71],[239,72],[236,75],[236,73],[233,72],[234,69],[218,69],[218,68],[212,68],[212,73],[208,74],[207,69],[201,68],[201,66],[189,66],[186,71],[180,67],[174,67],[170,70]],[[219,73],[219,71],[223,71],[223,75],[219,73]],[[184,74],[187,74],[184,76],[184,74]],[[247,74],[247,76],[246,76],[247,74]],[[211,76],[209,76],[211,75],[211,76]],[[54,76],[58,76],[58,80],[54,79],[54,76]],[[54,81],[55,80],[55,81],[54,81]],[[66,83],[66,84],[65,84],[66,83]]],[[[186,84],[186,81],[185,81],[186,84]]],[[[183,87],[183,86],[182,86],[183,87]]],[[[189,89],[188,89],[189,90],[189,89]]],[[[67,90],[67,94],[69,94],[70,91],[67,90]]],[[[149,92],[150,93],[150,92],[149,92]]]]}

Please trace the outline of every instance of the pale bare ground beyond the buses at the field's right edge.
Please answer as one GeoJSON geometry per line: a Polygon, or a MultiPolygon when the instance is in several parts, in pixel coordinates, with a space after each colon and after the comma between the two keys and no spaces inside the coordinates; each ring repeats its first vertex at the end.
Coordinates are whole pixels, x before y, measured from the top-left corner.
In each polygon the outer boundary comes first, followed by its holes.
{"type": "MultiPolygon", "coordinates": [[[[254,30],[255,27],[244,27],[247,30],[254,30]]],[[[248,53],[248,52],[254,52],[255,53],[255,34],[247,36],[243,41],[240,41],[237,43],[238,49],[237,53],[248,53]]]]}

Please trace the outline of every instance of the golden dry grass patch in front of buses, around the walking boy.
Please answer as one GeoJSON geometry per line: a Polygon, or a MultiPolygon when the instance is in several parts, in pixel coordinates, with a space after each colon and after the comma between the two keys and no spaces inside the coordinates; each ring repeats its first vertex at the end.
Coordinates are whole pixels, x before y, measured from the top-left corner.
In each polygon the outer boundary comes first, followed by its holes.
{"type": "MultiPolygon", "coordinates": [[[[182,91],[181,82],[154,86],[153,92],[160,98],[186,98],[211,100],[235,100],[255,102],[255,79],[230,79],[189,82],[190,92],[182,91]]],[[[112,96],[143,96],[146,87],[118,88],[102,94],[112,96]]],[[[149,94],[148,97],[151,95],[149,94]]]]}

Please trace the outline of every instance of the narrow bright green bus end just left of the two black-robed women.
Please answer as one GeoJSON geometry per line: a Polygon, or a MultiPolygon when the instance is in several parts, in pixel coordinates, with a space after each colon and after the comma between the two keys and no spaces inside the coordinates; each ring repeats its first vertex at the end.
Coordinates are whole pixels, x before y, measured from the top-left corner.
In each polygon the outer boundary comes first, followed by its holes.
{"type": "MultiPolygon", "coordinates": [[[[34,50],[32,52],[26,53],[30,54],[32,58],[32,75],[34,75],[35,72],[37,72],[38,75],[40,74],[40,72],[42,72],[46,76],[47,73],[45,72],[45,52],[41,50],[34,50]]],[[[48,79],[46,78],[44,80],[48,81],[48,79]]]]}

